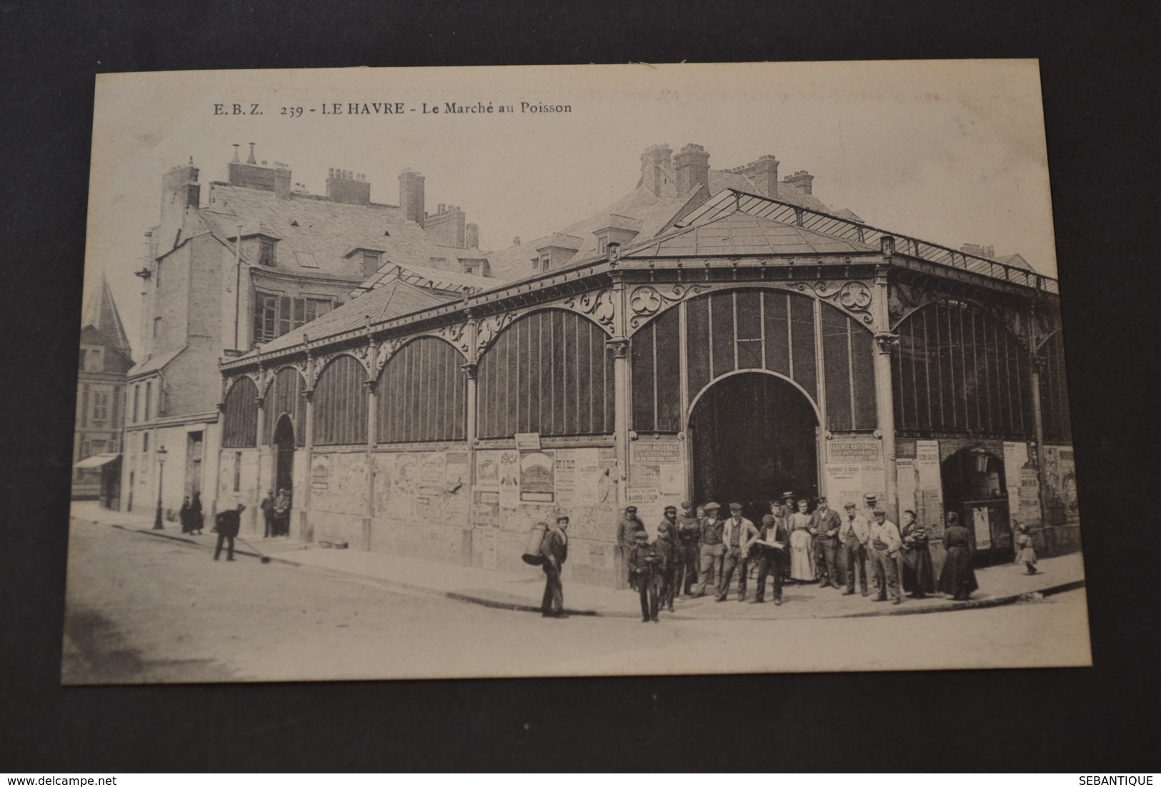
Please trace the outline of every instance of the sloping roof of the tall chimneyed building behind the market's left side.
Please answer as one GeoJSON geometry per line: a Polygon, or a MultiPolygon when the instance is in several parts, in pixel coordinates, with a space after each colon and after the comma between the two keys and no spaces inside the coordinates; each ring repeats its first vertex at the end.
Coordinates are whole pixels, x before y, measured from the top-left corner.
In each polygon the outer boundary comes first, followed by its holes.
{"type": "Polygon", "coordinates": [[[243,237],[261,233],[279,240],[277,267],[304,275],[331,274],[360,279],[347,254],[356,248],[383,252],[384,262],[440,267],[439,260],[459,268],[459,258],[483,258],[476,248],[455,248],[434,243],[421,226],[396,205],[333,202],[326,197],[291,192],[288,198],[221,181],[210,183],[209,207],[199,216],[221,238],[233,238],[241,223],[243,237]],[[296,254],[311,254],[318,267],[301,266],[296,254]]]}

